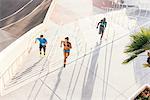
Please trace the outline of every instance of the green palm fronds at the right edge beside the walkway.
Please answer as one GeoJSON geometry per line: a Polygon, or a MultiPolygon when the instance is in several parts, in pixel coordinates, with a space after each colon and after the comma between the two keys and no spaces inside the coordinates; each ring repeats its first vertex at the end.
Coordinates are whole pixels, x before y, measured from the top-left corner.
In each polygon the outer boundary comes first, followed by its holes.
{"type": "Polygon", "coordinates": [[[124,60],[123,64],[129,63],[147,50],[150,50],[150,28],[142,28],[139,32],[131,35],[131,44],[125,49],[125,53],[129,55],[129,58],[124,60]]]}

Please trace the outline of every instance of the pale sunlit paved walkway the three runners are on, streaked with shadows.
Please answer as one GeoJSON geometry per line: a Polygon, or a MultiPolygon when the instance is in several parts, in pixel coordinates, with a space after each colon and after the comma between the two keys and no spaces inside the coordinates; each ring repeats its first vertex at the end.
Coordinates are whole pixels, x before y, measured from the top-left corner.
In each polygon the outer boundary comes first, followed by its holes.
{"type": "Polygon", "coordinates": [[[123,51],[129,42],[129,31],[111,23],[100,43],[95,18],[49,27],[51,30],[45,34],[49,41],[47,55],[41,57],[38,45],[33,45],[29,59],[18,69],[7,88],[30,79],[35,81],[0,99],[127,100],[142,85],[135,81],[133,65],[121,64],[126,57],[123,51]],[[59,46],[65,36],[70,37],[73,50],[67,67],[63,68],[59,46]],[[38,78],[34,79],[35,76],[38,78]]]}

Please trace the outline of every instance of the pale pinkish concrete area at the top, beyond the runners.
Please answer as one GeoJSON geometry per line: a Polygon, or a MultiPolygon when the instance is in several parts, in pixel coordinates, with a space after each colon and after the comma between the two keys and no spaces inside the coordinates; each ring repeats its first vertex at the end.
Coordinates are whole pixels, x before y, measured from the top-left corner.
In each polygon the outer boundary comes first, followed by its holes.
{"type": "Polygon", "coordinates": [[[57,0],[49,19],[57,24],[65,24],[90,15],[93,15],[91,0],[57,0]],[[81,9],[79,6],[83,5],[81,9]]]}

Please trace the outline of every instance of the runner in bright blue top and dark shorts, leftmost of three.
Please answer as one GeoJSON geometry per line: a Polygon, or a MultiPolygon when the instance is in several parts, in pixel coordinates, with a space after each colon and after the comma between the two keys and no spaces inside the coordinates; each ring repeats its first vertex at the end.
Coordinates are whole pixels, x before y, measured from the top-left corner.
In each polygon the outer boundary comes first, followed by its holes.
{"type": "Polygon", "coordinates": [[[39,41],[40,55],[42,54],[42,49],[43,49],[44,55],[45,55],[47,40],[44,38],[43,35],[40,35],[40,38],[36,38],[35,43],[36,43],[37,41],[39,41]]]}

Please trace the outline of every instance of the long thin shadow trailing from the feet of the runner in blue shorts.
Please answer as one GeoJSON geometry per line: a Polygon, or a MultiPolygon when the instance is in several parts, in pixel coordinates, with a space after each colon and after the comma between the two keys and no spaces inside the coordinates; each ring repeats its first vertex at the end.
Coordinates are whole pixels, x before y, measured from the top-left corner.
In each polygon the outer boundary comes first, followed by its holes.
{"type": "Polygon", "coordinates": [[[57,75],[57,82],[56,82],[56,84],[55,84],[55,87],[54,87],[54,89],[53,89],[53,93],[52,93],[52,95],[51,95],[51,97],[50,97],[50,99],[49,100],[53,100],[53,97],[54,97],[54,93],[56,93],[56,90],[57,90],[57,88],[58,88],[58,86],[59,86],[59,83],[60,83],[60,80],[61,80],[61,74],[62,74],[62,71],[63,71],[63,69],[64,69],[64,67],[62,67],[61,69],[60,69],[60,72],[58,73],[58,75],[57,75]]]}

